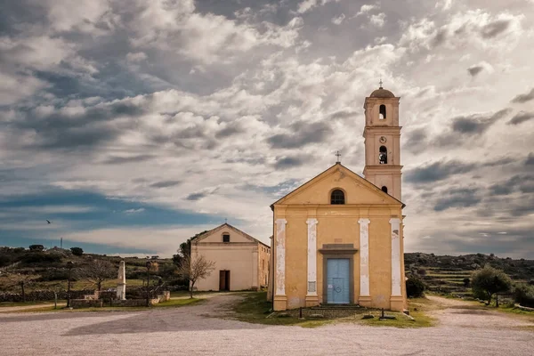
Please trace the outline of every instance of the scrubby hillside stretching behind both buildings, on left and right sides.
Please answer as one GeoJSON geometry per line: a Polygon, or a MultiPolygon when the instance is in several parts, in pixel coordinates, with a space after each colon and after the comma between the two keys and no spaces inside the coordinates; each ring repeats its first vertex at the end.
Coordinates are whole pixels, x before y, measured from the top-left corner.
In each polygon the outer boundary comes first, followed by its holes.
{"type": "MultiPolygon", "coordinates": [[[[499,258],[495,255],[434,255],[424,253],[405,254],[406,275],[415,274],[425,281],[429,290],[454,295],[469,295],[471,273],[486,263],[503,270],[515,281],[534,279],[534,261],[514,260],[509,257],[499,258]]],[[[125,260],[126,279],[129,287],[142,286],[146,281],[147,259],[137,257],[107,256],[82,254],[73,255],[68,249],[52,248],[48,250],[29,250],[23,247],[0,247],[0,292],[20,292],[20,281],[25,283],[26,291],[39,289],[67,289],[69,279],[69,262],[74,269],[84,268],[94,260],[112,263],[118,269],[118,263],[125,260]],[[4,271],[3,271],[4,270],[4,271]],[[6,273],[9,271],[9,273],[6,273]]],[[[150,279],[160,280],[167,286],[182,285],[174,274],[172,259],[152,256],[150,261],[158,263],[158,271],[150,274],[150,279]]],[[[109,279],[103,288],[116,287],[117,280],[109,279]]],[[[78,279],[73,273],[74,289],[94,288],[85,279],[78,279]]]]}

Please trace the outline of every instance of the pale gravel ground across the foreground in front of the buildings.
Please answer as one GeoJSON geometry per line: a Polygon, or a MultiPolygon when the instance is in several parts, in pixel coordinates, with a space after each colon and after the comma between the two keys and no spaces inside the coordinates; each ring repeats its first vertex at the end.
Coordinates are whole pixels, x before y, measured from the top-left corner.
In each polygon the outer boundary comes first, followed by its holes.
{"type": "Polygon", "coordinates": [[[434,299],[433,328],[321,328],[248,324],[210,318],[238,295],[147,312],[0,315],[0,355],[532,355],[534,328],[524,319],[471,304],[434,299]],[[529,328],[524,328],[529,326],[529,328]]]}

